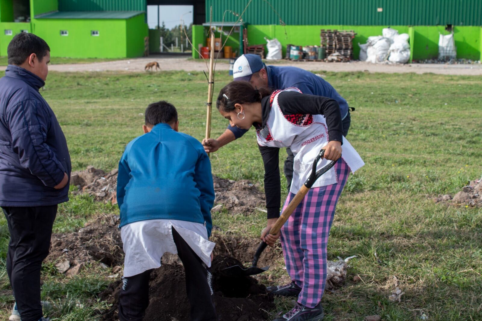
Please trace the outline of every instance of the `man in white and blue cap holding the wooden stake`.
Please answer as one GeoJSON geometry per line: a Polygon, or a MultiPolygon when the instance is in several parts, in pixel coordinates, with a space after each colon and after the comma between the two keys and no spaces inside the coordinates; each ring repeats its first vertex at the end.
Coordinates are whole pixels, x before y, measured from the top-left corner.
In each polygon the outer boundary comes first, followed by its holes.
{"type": "MultiPolygon", "coordinates": [[[[272,90],[298,88],[303,94],[329,97],[338,102],[343,123],[343,135],[348,134],[351,117],[347,101],[340,96],[328,81],[298,67],[266,66],[257,54],[243,54],[236,59],[233,66],[234,81],[244,80],[251,82],[255,87],[268,87],[272,90]]],[[[354,110],[354,108],[351,108],[354,110]]],[[[208,153],[215,152],[220,147],[240,138],[247,130],[230,125],[217,139],[203,139],[202,145],[208,153]]],[[[288,190],[293,178],[293,159],[295,156],[286,148],[288,157],[284,162],[284,174],[288,190]]]]}

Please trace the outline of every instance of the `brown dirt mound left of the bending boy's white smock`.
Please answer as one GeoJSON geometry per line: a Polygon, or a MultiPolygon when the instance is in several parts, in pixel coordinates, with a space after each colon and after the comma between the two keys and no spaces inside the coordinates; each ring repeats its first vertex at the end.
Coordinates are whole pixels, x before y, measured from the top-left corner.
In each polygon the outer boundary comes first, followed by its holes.
{"type": "Polygon", "coordinates": [[[71,268],[94,261],[109,267],[122,265],[119,222],[119,215],[103,214],[77,232],[53,234],[47,261],[64,263],[58,268],[67,274],[71,268]]]}

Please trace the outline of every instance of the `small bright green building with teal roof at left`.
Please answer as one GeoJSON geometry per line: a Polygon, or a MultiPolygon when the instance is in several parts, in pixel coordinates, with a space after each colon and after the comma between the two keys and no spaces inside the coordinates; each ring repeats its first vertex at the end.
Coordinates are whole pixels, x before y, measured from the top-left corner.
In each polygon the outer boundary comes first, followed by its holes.
{"type": "Polygon", "coordinates": [[[49,44],[54,57],[142,56],[146,0],[0,0],[0,55],[19,32],[49,44]]]}

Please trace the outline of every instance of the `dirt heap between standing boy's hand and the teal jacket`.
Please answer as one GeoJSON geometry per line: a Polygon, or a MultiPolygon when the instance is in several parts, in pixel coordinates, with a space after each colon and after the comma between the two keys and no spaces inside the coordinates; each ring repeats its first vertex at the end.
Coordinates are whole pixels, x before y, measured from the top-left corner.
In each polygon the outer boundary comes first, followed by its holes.
{"type": "Polygon", "coordinates": [[[94,196],[95,201],[103,201],[117,204],[117,173],[114,169],[109,173],[96,169],[94,166],[87,166],[83,171],[70,174],[70,185],[77,187],[72,194],[87,193],[94,196]]]}

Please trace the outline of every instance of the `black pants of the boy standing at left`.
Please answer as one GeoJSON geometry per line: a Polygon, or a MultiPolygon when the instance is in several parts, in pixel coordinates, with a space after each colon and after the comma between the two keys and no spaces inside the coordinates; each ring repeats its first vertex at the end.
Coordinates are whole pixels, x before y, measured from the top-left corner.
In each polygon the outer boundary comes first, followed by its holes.
{"type": "Polygon", "coordinates": [[[49,254],[57,205],[2,207],[10,232],[7,273],[22,321],[38,321],[40,268],[49,254]]]}

